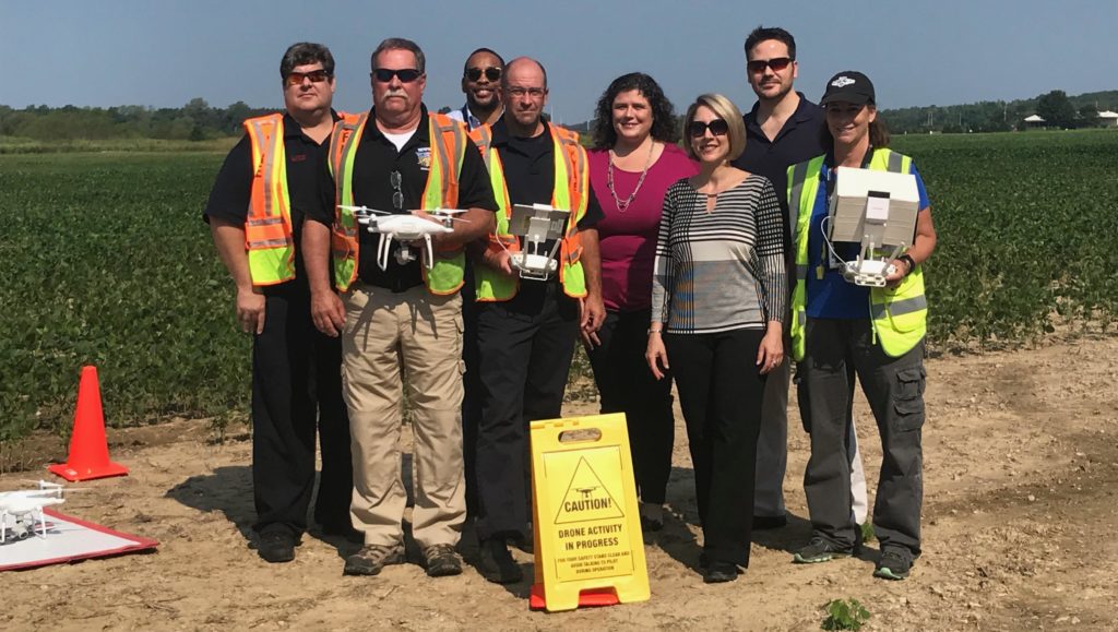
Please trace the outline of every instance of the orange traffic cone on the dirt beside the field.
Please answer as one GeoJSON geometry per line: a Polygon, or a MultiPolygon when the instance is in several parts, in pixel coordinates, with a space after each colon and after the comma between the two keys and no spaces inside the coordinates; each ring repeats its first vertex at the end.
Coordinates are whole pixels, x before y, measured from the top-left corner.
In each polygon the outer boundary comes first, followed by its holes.
{"type": "Polygon", "coordinates": [[[77,414],[70,435],[70,453],[66,463],[47,468],[67,481],[88,481],[127,475],[129,469],[108,460],[105,440],[105,414],[101,409],[101,386],[97,367],[82,367],[77,387],[77,414]]]}

